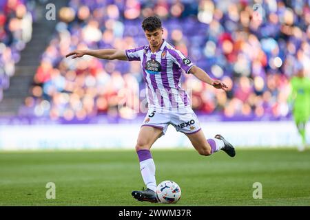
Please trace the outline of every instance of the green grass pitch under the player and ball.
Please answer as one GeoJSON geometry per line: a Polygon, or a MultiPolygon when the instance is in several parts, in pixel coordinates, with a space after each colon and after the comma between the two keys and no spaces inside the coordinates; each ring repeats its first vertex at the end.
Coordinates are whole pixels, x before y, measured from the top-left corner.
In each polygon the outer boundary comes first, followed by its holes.
{"type": "MultiPolygon", "coordinates": [[[[234,158],[155,150],[153,157],[157,182],[180,185],[176,205],[310,206],[309,150],[238,149],[234,158]],[[252,197],[254,182],[262,199],[252,197]]],[[[0,206],[164,206],[133,199],[143,185],[135,151],[0,153],[0,206]],[[45,198],[48,182],[56,199],[45,198]]]]}

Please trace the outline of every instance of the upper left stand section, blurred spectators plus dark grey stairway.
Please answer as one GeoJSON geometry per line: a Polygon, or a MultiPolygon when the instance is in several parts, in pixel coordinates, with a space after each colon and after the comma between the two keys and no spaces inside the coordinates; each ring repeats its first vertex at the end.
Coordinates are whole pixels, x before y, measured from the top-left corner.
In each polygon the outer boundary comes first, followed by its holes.
{"type": "MultiPolygon", "coordinates": [[[[54,1],[61,7],[62,1],[54,1]]],[[[0,115],[16,116],[50,41],[56,21],[45,19],[45,1],[6,0],[0,5],[0,115]],[[3,92],[3,94],[2,94],[3,92]]]]}

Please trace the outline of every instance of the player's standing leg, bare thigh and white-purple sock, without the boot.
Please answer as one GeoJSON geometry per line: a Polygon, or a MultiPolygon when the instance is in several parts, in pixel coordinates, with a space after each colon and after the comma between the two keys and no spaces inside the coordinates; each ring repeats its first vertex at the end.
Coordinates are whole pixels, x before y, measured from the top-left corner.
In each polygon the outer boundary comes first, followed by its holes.
{"type": "Polygon", "coordinates": [[[163,129],[154,126],[141,126],[136,143],[136,153],[140,162],[141,175],[147,188],[156,191],[155,164],[149,151],[154,142],[161,137],[163,129]]]}

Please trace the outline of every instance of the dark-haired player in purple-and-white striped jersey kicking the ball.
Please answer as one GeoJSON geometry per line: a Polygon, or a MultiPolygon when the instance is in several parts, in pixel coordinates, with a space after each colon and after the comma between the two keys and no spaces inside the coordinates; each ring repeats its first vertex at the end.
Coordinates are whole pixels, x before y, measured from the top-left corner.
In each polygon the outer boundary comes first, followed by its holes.
{"type": "Polygon", "coordinates": [[[145,81],[148,112],[143,122],[136,152],[140,162],[141,175],[147,186],[146,190],[133,191],[132,196],[138,201],[158,202],[156,198],[155,164],[149,151],[154,142],[164,135],[167,126],[172,124],[176,131],[187,135],[192,145],[200,155],[209,156],[223,150],[230,157],[236,155],[232,146],[222,135],[215,138],[205,138],[200,129],[198,118],[192,107],[187,92],[182,89],[180,77],[182,70],[186,74],[193,74],[216,89],[226,89],[220,80],[213,80],[180,51],[163,39],[161,20],[148,17],[142,23],[148,45],[132,50],[75,50],[66,57],[81,57],[85,54],[103,59],[117,59],[121,61],[141,61],[143,78],[145,81]]]}

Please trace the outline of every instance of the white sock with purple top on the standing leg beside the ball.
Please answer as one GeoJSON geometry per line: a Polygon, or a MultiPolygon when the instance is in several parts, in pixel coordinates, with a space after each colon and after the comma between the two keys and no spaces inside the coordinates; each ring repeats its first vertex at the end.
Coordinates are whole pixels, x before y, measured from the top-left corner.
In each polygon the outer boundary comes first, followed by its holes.
{"type": "Polygon", "coordinates": [[[151,152],[147,149],[136,152],[140,161],[140,170],[147,188],[156,192],[155,164],[151,152]]]}

